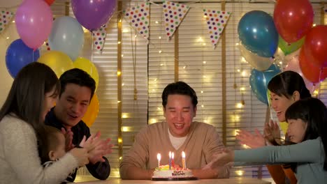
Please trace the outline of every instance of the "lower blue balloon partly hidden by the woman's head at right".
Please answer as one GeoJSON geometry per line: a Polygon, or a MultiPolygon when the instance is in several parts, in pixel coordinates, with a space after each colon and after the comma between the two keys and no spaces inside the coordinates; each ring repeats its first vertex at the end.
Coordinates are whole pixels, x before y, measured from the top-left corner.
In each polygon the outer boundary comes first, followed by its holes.
{"type": "Polygon", "coordinates": [[[256,69],[252,69],[251,75],[249,77],[249,83],[251,86],[251,90],[256,95],[256,98],[261,102],[268,105],[267,98],[267,88],[270,80],[281,71],[278,66],[275,64],[271,65],[266,71],[259,71],[256,69]]]}

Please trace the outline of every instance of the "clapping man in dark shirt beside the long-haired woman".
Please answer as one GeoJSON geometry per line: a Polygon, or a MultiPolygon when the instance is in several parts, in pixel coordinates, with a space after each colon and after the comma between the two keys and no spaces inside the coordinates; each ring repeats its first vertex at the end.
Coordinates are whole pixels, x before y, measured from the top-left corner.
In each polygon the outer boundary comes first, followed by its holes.
{"type": "MultiPolygon", "coordinates": [[[[84,136],[87,138],[91,136],[89,128],[81,119],[87,112],[96,83],[87,72],[78,68],[64,72],[59,80],[61,83],[59,100],[45,117],[45,124],[65,133],[66,150],[69,151],[75,145],[80,145],[84,136]]],[[[100,139],[99,137],[98,132],[94,138],[100,139]]],[[[106,180],[110,175],[110,164],[104,155],[111,153],[111,148],[110,139],[106,139],[101,140],[101,144],[96,144],[89,152],[89,164],[86,166],[95,178],[106,180]]],[[[74,181],[76,172],[72,176],[74,181]]]]}

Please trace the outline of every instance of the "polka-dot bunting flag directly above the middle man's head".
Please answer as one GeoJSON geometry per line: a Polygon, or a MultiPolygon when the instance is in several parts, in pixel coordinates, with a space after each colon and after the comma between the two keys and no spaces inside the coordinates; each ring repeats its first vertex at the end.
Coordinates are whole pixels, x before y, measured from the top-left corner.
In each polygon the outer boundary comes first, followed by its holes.
{"type": "Polygon", "coordinates": [[[182,3],[163,1],[163,15],[166,26],[166,36],[170,39],[189,11],[189,6],[182,3]]]}

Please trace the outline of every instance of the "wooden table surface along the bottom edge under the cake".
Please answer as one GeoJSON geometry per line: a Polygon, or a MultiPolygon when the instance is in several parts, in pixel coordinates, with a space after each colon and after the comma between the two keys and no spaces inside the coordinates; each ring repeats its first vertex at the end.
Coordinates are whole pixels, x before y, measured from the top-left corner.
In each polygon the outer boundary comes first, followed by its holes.
{"type": "Polygon", "coordinates": [[[270,184],[268,181],[262,181],[256,178],[228,178],[228,179],[210,179],[198,181],[150,181],[150,180],[122,180],[120,178],[110,178],[106,181],[87,181],[84,184],[270,184]]]}

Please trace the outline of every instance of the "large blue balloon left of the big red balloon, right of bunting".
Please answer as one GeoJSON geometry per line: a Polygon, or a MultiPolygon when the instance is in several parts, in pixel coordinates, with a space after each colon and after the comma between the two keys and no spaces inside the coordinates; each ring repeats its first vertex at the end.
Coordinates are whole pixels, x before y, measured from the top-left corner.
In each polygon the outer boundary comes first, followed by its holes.
{"type": "Polygon", "coordinates": [[[238,23],[238,36],[242,44],[254,54],[271,57],[278,44],[278,33],[273,17],[268,13],[254,10],[241,18],[238,23]]]}

